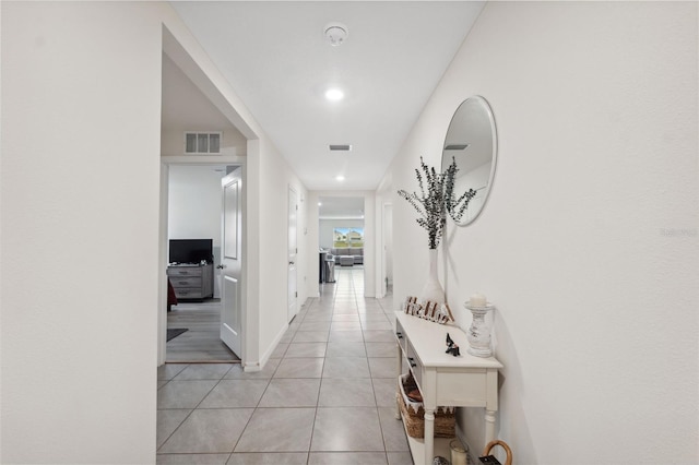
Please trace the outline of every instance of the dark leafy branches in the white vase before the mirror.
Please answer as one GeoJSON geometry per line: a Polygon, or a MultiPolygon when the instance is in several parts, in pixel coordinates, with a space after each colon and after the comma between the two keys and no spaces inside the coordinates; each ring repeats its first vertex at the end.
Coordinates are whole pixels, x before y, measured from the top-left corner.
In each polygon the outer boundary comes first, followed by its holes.
{"type": "Polygon", "coordinates": [[[459,168],[457,160],[451,159],[451,165],[445,172],[437,172],[434,167],[428,167],[423,157],[419,157],[420,169],[415,169],[420,195],[408,193],[401,189],[398,194],[405,199],[419,214],[417,224],[427,229],[427,237],[430,249],[437,249],[441,241],[447,226],[447,213],[459,220],[469,207],[469,202],[476,194],[476,191],[469,189],[458,199],[454,199],[454,179],[459,168]],[[423,180],[424,176],[424,180],[423,180]],[[427,190],[425,190],[425,184],[427,190]]]}

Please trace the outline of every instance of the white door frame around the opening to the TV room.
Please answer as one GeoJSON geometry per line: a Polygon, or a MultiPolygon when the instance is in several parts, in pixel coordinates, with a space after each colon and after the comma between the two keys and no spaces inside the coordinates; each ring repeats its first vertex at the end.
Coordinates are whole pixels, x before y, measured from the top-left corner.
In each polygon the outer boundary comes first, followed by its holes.
{"type": "MultiPolygon", "coordinates": [[[[244,181],[244,189],[247,184],[247,170],[246,170],[246,158],[237,155],[229,156],[162,156],[161,157],[161,202],[159,202],[159,237],[158,237],[158,250],[159,250],[159,263],[161,266],[158,269],[158,308],[157,308],[157,319],[158,319],[158,329],[157,329],[157,341],[158,341],[158,350],[157,350],[157,365],[161,366],[165,363],[167,358],[167,238],[168,238],[168,207],[169,207],[169,167],[178,165],[178,166],[216,166],[216,165],[226,165],[226,166],[240,166],[242,168],[241,178],[244,181]]],[[[245,193],[244,198],[245,199],[245,193]]],[[[245,234],[245,225],[246,225],[246,204],[242,205],[242,226],[244,226],[244,235],[242,235],[242,250],[246,253],[246,234],[245,234]]],[[[223,212],[222,212],[223,213],[223,212]]],[[[245,261],[244,261],[245,263],[245,261]]],[[[247,267],[244,265],[242,275],[247,277],[247,267]]],[[[246,334],[246,322],[247,322],[247,298],[245,289],[241,295],[241,305],[242,305],[242,337],[245,341],[246,334]]],[[[242,345],[242,354],[239,354],[241,363],[245,366],[245,344],[242,345]]]]}

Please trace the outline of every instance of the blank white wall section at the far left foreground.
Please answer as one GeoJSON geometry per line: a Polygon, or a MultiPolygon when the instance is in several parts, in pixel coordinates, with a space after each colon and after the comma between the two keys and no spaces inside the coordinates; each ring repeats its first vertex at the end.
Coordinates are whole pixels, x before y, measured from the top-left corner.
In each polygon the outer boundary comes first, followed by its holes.
{"type": "Polygon", "coordinates": [[[2,2],[2,463],[154,463],[161,7],[2,2]]]}

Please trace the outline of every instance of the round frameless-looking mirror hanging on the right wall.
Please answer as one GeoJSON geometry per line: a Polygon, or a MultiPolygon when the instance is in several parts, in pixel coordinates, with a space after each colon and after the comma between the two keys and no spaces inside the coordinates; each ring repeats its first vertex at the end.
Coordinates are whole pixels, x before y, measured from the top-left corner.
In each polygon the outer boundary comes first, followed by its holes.
{"type": "Polygon", "coordinates": [[[496,154],[497,133],[490,106],[481,96],[466,98],[451,118],[441,153],[442,172],[452,160],[457,167],[453,200],[463,200],[450,203],[449,214],[459,226],[472,223],[483,211],[493,184],[496,154]],[[471,190],[475,192],[464,195],[471,190]]]}

